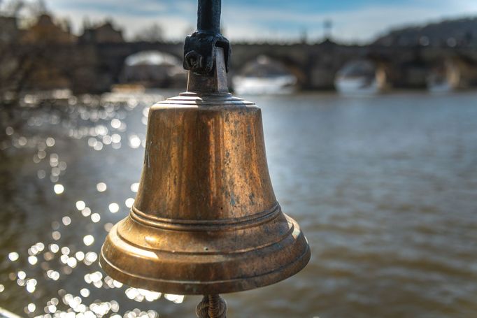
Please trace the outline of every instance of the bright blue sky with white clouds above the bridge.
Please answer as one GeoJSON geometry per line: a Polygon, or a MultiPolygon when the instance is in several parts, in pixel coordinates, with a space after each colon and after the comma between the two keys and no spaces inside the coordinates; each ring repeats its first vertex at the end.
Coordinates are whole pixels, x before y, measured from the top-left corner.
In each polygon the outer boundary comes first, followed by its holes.
{"type": "MultiPolygon", "coordinates": [[[[45,0],[81,31],[83,20],[115,20],[127,38],[151,24],[180,40],[195,28],[197,0],[45,0]]],[[[222,28],[231,41],[319,41],[331,20],[336,41],[365,43],[392,28],[444,18],[477,17],[477,0],[224,0],[222,28]]]]}

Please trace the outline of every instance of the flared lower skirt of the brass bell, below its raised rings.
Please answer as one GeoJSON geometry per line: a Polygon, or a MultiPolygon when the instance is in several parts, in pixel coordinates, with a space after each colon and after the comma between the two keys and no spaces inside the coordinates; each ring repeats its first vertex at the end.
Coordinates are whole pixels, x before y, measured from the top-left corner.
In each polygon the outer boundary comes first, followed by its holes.
{"type": "Polygon", "coordinates": [[[299,272],[310,259],[298,224],[282,212],[269,218],[245,229],[178,231],[144,229],[127,217],[111,229],[101,266],[129,286],[169,294],[264,287],[299,272]]]}

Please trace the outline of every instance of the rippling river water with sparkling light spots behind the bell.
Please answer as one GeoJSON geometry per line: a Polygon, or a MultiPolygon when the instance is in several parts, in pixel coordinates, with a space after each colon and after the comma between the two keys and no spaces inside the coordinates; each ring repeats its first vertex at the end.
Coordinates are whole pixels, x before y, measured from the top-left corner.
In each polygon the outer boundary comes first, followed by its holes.
{"type": "MultiPolygon", "coordinates": [[[[155,99],[70,99],[2,127],[1,307],[194,317],[199,297],[121,286],[97,261],[135,196],[155,99]]],[[[229,317],[477,317],[477,94],[247,99],[312,258],[288,280],[225,295],[229,317]]]]}

